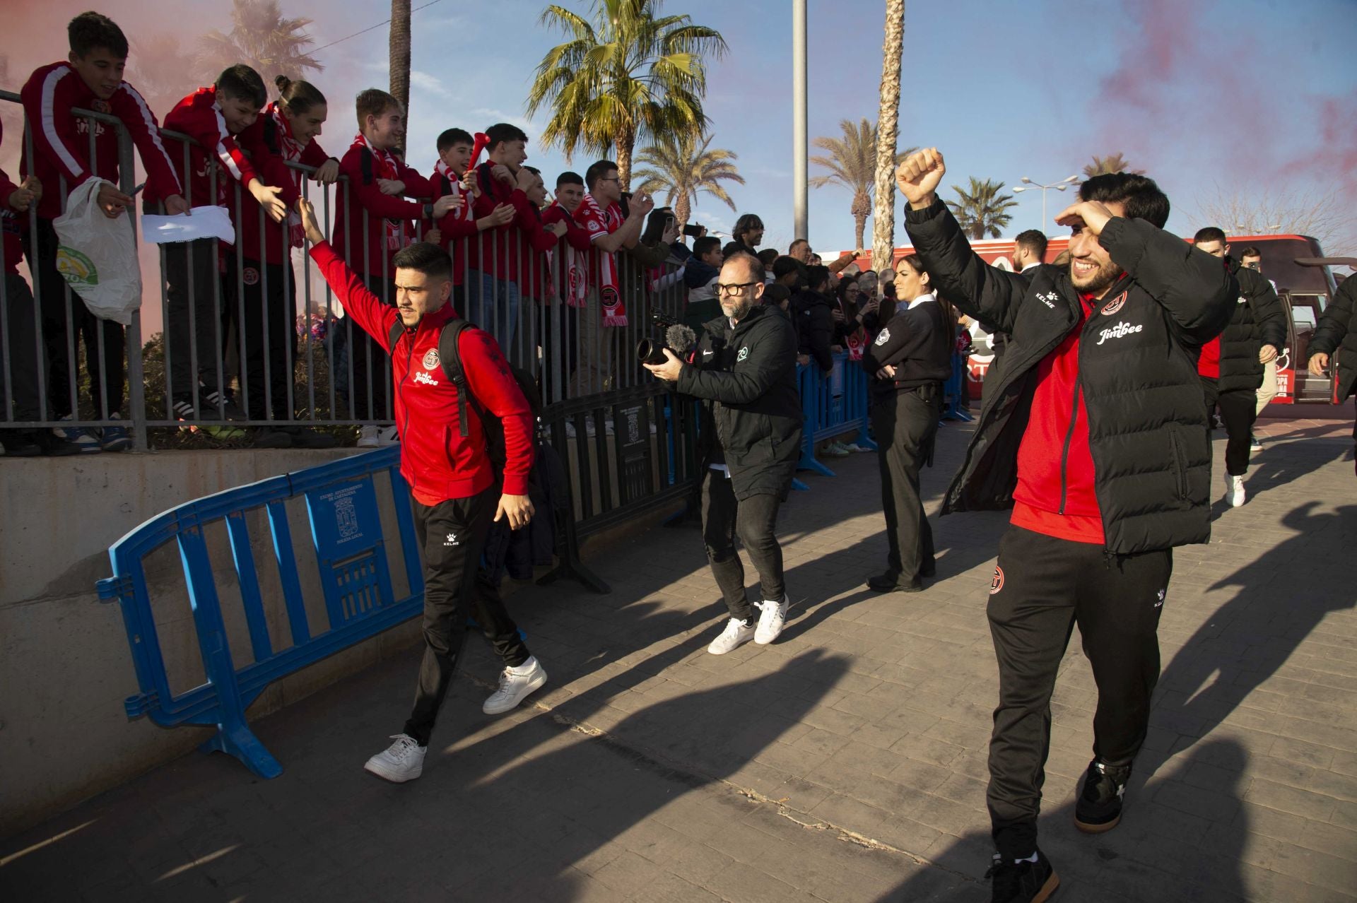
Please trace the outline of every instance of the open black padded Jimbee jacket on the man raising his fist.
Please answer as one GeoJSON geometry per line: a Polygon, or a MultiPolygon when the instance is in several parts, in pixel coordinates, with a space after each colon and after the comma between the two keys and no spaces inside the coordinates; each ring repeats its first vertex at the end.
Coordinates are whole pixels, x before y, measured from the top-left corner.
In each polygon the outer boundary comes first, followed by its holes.
{"type": "MultiPolygon", "coordinates": [[[[1010,335],[943,513],[1010,507],[1037,365],[1079,321],[1079,292],[1065,268],[1025,277],[988,266],[942,201],[906,209],[905,228],[938,293],[1010,335]]],[[[1101,243],[1126,274],[1083,325],[1077,386],[1106,549],[1205,542],[1210,445],[1197,357],[1229,320],[1239,283],[1221,260],[1144,220],[1113,218],[1101,243]]]]}

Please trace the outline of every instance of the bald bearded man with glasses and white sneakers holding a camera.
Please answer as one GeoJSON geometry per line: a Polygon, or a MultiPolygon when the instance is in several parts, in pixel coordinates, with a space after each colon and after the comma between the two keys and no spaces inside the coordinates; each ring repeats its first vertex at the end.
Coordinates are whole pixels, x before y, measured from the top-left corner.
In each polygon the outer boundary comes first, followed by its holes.
{"type": "Polygon", "coordinates": [[[646,365],[678,392],[706,399],[700,456],[702,533],[730,620],[707,651],[725,655],[750,639],[768,644],[787,618],[778,506],[791,488],[801,453],[797,335],[775,306],[760,304],[763,264],[748,254],[726,259],[716,282],[722,316],[704,324],[697,346],[646,365]],[[750,606],[735,536],[759,571],[763,601],[750,606]],[[759,607],[757,625],[753,607],[759,607]]]}

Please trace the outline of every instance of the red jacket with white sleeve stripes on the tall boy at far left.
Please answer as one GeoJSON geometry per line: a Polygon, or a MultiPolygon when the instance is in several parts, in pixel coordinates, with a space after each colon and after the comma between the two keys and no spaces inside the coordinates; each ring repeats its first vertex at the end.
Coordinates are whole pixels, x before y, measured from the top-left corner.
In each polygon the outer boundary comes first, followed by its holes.
{"type": "Polygon", "coordinates": [[[33,174],[42,182],[38,216],[43,220],[61,216],[65,198],[91,176],[118,184],[117,129],[73,114],[75,107],[107,113],[122,121],[141,153],[141,163],[147,167],[148,191],[155,191],[160,198],[183,194],[174,163],[160,140],[160,126],[155,114],[137,89],[126,81],[109,100],[100,100],[69,62],[53,62],[34,69],[20,96],[23,114],[31,127],[34,159],[28,159],[26,146],[19,175],[22,178],[33,174]],[[94,125],[92,160],[91,123],[94,125]],[[61,191],[62,176],[66,180],[65,194],[61,191]]]}

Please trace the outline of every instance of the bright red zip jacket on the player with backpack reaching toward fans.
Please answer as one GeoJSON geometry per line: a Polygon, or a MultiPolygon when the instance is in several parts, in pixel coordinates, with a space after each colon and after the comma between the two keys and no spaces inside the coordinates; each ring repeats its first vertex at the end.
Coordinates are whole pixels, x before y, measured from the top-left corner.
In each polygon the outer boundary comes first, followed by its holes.
{"type": "MultiPolygon", "coordinates": [[[[391,327],[399,319],[395,308],[383,304],[345,266],[335,249],[322,241],[311,248],[326,282],[353,321],[391,355],[391,376],[396,386],[396,428],[400,431],[400,475],[421,504],[465,499],[494,483],[486,434],[468,404],[467,437],[460,435],[457,389],[438,361],[442,325],[456,316],[451,304],[427,313],[414,329],[404,329],[396,347],[388,347],[391,327]]],[[[457,342],[467,388],[476,403],[503,422],[506,495],[528,494],[532,469],[532,408],[509,370],[495,340],[480,329],[465,329],[457,342]]]]}

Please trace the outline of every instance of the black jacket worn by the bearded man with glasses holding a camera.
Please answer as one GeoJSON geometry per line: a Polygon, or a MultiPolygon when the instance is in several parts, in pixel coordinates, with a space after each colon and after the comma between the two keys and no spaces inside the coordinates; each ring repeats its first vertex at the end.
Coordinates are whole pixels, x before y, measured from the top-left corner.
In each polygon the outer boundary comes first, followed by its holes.
{"type": "Polygon", "coordinates": [[[697,336],[693,363],[685,363],[677,388],[711,401],[702,431],[703,468],[712,439],[730,468],[737,499],[784,495],[801,457],[801,393],[797,389],[797,339],[778,308],[754,305],[734,327],[725,316],[697,336]]]}

